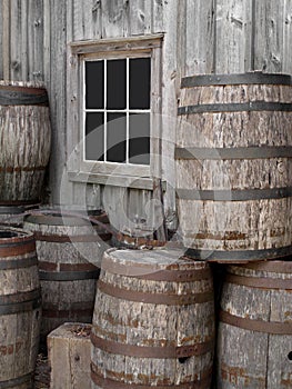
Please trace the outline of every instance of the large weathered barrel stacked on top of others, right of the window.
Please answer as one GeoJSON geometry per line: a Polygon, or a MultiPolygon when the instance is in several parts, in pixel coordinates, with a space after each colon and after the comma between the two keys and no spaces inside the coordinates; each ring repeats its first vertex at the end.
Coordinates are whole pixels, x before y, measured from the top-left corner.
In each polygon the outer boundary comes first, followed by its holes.
{"type": "Polygon", "coordinates": [[[291,77],[182,79],[177,134],[181,235],[194,259],[292,253],[291,77]]]}

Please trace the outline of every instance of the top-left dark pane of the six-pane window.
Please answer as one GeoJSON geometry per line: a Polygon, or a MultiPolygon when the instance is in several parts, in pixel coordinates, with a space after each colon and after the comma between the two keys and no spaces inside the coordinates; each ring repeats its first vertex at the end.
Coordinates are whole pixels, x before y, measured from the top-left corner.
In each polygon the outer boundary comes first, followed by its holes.
{"type": "Polygon", "coordinates": [[[85,107],[104,108],[104,62],[85,62],[85,107]]]}

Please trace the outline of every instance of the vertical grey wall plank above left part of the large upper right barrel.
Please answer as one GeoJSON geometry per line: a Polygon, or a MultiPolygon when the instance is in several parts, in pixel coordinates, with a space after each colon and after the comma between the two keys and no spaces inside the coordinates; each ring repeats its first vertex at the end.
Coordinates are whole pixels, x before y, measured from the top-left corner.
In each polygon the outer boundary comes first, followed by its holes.
{"type": "Polygon", "coordinates": [[[187,76],[213,70],[214,9],[213,0],[187,1],[187,76]]]}

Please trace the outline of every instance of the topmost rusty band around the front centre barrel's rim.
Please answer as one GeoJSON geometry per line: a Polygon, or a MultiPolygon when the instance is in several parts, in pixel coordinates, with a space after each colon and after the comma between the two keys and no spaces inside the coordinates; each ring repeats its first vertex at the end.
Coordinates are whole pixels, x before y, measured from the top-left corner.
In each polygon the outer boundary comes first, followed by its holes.
{"type": "Polygon", "coordinates": [[[211,279],[210,268],[192,270],[159,270],[139,266],[127,266],[103,257],[101,269],[111,273],[152,281],[188,282],[211,279]]]}

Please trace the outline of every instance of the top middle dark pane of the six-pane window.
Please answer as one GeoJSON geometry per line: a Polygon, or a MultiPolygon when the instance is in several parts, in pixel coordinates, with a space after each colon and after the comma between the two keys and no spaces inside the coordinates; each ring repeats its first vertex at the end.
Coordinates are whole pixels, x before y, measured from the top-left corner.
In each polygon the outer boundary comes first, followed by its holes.
{"type": "Polygon", "coordinates": [[[125,59],[108,60],[107,109],[125,109],[125,59]]]}

